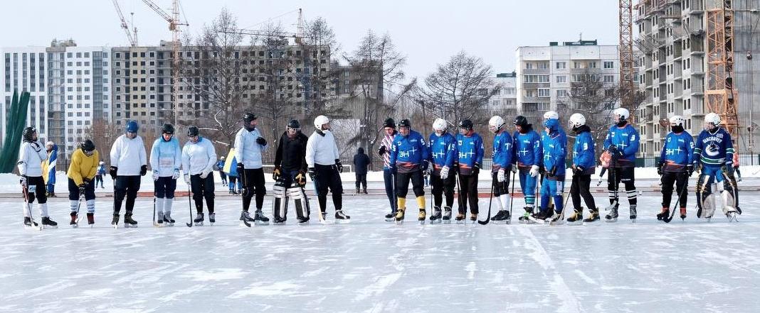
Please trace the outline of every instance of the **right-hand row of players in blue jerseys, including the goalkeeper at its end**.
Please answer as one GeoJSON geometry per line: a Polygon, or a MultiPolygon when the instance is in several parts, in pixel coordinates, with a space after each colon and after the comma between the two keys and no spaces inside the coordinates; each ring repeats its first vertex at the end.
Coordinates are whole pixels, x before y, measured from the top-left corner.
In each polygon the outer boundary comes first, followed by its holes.
{"type": "MultiPolygon", "coordinates": [[[[635,187],[635,155],[639,147],[639,135],[629,123],[629,111],[617,108],[613,111],[614,124],[606,133],[604,152],[600,157],[603,171],[608,175],[608,198],[606,221],[617,221],[619,217],[619,184],[625,186],[625,196],[629,202],[629,218],[637,217],[637,191],[635,187]]],[[[533,130],[524,116],[515,117],[515,133],[508,133],[502,117],[489,120],[489,131],[494,134],[492,167],[492,197],[496,198],[498,212],[491,219],[497,223],[511,220],[511,199],[508,192],[508,172],[518,175],[524,194],[524,213],[518,218],[521,223],[562,223],[564,219],[563,193],[565,183],[565,156],[567,136],[559,127],[559,114],[547,111],[543,115],[543,131],[533,130]],[[537,183],[540,183],[540,209],[536,206],[537,183]],[[553,205],[552,205],[553,202],[553,205]]],[[[720,116],[709,113],[705,116],[703,130],[695,144],[692,135],[684,130],[685,120],[681,116],[670,118],[670,133],[665,139],[657,172],[662,181],[662,211],[658,220],[670,215],[673,183],[676,183],[678,205],[681,218],[686,218],[686,190],[689,177],[700,171],[697,183],[698,218],[711,218],[717,208],[718,192],[722,199],[724,214],[736,220],[741,214],[738,190],[733,176],[734,150],[731,138],[720,127],[720,116]]],[[[431,223],[449,222],[454,202],[454,186],[458,188],[458,214],[455,220],[462,222],[470,206],[470,221],[477,221],[479,208],[477,200],[477,176],[483,163],[483,138],[473,132],[470,120],[461,121],[456,136],[448,133],[445,120],[436,119],[433,133],[426,141],[412,129],[407,119],[398,124],[388,118],[384,124],[385,133],[378,155],[383,158],[385,191],[391,212],[386,221],[401,223],[407,210],[406,196],[411,182],[416,197],[420,222],[426,219],[426,201],[423,189],[423,172],[429,171],[432,185],[433,208],[429,217],[431,223]],[[456,180],[456,181],[455,181],[456,180]],[[445,198],[445,205],[443,200],[445,198]]],[[[600,220],[599,208],[591,195],[591,175],[596,167],[595,144],[591,129],[582,114],[572,114],[568,128],[575,133],[572,152],[572,184],[569,194],[573,211],[568,217],[569,224],[592,223],[600,220]],[[588,208],[584,208],[581,198],[588,208]]],[[[513,179],[514,182],[514,179],[513,179]]],[[[668,220],[669,221],[669,220],[668,220]]]]}

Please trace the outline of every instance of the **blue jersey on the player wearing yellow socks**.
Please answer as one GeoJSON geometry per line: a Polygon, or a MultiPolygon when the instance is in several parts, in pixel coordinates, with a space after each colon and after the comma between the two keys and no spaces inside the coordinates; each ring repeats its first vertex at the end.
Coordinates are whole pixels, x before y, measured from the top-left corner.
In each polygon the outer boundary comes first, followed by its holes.
{"type": "Polygon", "coordinates": [[[391,144],[391,167],[396,167],[399,173],[419,171],[423,160],[428,158],[428,147],[420,133],[409,130],[407,136],[396,134],[391,144]]]}

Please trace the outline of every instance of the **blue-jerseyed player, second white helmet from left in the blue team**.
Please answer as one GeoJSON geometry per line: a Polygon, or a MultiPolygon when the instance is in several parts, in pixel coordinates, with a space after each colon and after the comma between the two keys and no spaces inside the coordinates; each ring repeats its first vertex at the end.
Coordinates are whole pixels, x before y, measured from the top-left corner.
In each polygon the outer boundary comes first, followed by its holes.
{"type": "Polygon", "coordinates": [[[492,218],[495,223],[511,220],[509,212],[509,179],[507,173],[512,168],[512,136],[505,126],[504,119],[499,115],[491,117],[488,121],[488,129],[496,136],[493,138],[493,154],[491,176],[493,184],[493,197],[496,198],[496,207],[499,212],[492,218]]]}

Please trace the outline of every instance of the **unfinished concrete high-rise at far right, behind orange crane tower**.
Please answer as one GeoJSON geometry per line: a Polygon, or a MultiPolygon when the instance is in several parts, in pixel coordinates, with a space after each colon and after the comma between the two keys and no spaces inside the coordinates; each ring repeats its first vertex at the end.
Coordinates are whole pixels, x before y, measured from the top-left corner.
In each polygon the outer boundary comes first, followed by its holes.
{"type": "MultiPolygon", "coordinates": [[[[704,128],[708,113],[705,103],[708,39],[706,11],[717,8],[720,2],[711,0],[654,0],[641,1],[635,7],[635,45],[641,67],[639,90],[644,93],[639,123],[641,152],[644,156],[658,156],[669,128],[660,127],[659,121],[679,114],[686,118],[686,130],[698,136],[704,128]],[[637,31],[638,30],[638,31],[637,31]]],[[[758,0],[733,1],[734,16],[734,71],[738,97],[739,138],[738,152],[751,152],[755,137],[752,116],[758,108],[754,85],[760,83],[753,75],[753,67],[760,69],[758,59],[748,60],[748,52],[758,51],[757,30],[760,8],[758,0]],[[753,10],[750,10],[752,8],[753,10]],[[754,39],[753,39],[754,37],[754,39]],[[753,126],[748,131],[748,126],[753,126]]]]}

